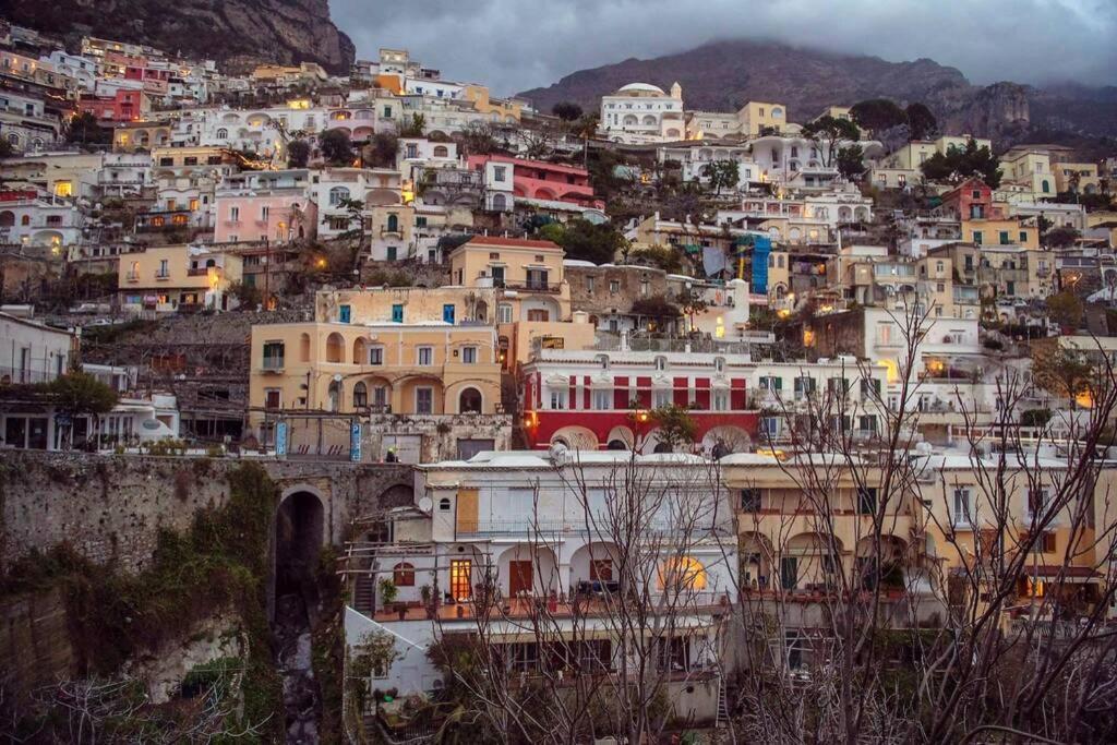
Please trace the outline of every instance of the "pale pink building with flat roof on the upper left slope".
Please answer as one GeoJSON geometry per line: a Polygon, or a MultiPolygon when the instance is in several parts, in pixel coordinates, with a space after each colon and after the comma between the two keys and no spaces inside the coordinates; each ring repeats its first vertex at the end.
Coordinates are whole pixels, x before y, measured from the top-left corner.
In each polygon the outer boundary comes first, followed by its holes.
{"type": "Polygon", "coordinates": [[[217,190],[219,242],[285,241],[317,235],[318,208],[307,197],[306,170],[250,171],[226,178],[217,190]]]}

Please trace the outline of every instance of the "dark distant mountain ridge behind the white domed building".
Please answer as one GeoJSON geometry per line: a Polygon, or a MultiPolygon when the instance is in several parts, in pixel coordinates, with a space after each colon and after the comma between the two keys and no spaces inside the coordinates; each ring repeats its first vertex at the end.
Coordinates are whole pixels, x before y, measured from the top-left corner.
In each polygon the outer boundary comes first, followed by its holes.
{"type": "Polygon", "coordinates": [[[802,122],[829,105],[888,97],[925,102],[948,131],[1002,141],[1027,140],[1032,127],[1117,134],[1113,89],[1068,85],[1040,90],[1015,83],[976,86],[960,70],[932,59],[889,63],[748,40],[718,41],[655,59],[626,59],[518,95],[541,111],[550,111],[560,101],[595,111],[600,96],[628,83],[666,88],[676,80],[682,85],[687,108],[733,111],[746,101],[777,101],[787,105],[791,121],[802,122]]]}

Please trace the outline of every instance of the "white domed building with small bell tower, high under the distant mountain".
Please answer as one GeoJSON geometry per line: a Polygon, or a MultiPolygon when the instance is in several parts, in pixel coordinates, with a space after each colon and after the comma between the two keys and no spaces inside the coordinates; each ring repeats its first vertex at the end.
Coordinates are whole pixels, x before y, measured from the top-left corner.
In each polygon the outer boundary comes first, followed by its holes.
{"type": "Polygon", "coordinates": [[[601,97],[599,132],[607,140],[623,143],[674,142],[686,137],[682,86],[670,94],[647,83],[630,83],[601,97]]]}

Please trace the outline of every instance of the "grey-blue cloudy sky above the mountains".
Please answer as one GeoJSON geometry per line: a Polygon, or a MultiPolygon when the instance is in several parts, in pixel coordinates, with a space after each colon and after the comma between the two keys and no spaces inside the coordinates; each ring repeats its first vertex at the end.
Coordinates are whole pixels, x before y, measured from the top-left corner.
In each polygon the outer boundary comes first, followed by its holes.
{"type": "Polygon", "coordinates": [[[498,94],[628,57],[756,38],[899,61],[975,83],[1117,85],[1115,0],[331,0],[357,56],[404,47],[498,94]]]}

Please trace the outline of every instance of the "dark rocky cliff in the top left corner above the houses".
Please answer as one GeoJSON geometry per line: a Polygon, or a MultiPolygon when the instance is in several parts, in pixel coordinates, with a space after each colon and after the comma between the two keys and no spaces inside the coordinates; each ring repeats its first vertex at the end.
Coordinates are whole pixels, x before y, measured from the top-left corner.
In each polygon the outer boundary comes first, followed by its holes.
{"type": "Polygon", "coordinates": [[[355,55],[330,20],[328,0],[10,0],[4,17],[44,32],[217,59],[232,71],[314,61],[343,74],[355,55]]]}

